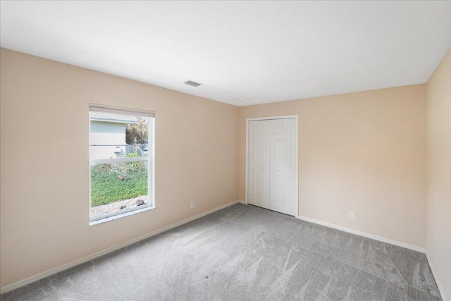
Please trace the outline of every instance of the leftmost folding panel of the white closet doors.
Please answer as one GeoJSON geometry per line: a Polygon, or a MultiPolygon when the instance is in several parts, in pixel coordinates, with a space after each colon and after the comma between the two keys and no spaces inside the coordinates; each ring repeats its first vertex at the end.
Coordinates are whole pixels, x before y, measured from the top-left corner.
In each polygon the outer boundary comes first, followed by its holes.
{"type": "Polygon", "coordinates": [[[249,121],[247,133],[248,152],[248,178],[247,202],[252,205],[259,204],[259,121],[249,121]]]}

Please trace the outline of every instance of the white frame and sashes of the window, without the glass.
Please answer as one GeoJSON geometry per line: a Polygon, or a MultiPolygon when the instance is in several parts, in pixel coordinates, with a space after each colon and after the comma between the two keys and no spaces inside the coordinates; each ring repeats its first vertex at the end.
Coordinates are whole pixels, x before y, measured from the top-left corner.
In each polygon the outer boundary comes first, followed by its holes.
{"type": "MultiPolygon", "coordinates": [[[[89,226],[94,226],[99,223],[121,219],[125,216],[138,214],[140,212],[148,211],[155,208],[155,113],[153,111],[143,111],[136,109],[126,109],[116,106],[105,106],[101,104],[89,104],[89,112],[101,111],[105,113],[118,113],[133,116],[144,116],[149,121],[149,150],[148,156],[130,157],[130,158],[113,158],[113,159],[91,159],[90,145],[91,145],[91,118],[89,117],[89,226]],[[152,143],[151,143],[152,142],[152,143]],[[137,207],[124,208],[113,211],[109,214],[104,214],[91,218],[91,165],[103,163],[118,163],[118,162],[133,162],[133,161],[147,161],[147,204],[137,207]]],[[[90,115],[90,114],[89,114],[90,115]]]]}

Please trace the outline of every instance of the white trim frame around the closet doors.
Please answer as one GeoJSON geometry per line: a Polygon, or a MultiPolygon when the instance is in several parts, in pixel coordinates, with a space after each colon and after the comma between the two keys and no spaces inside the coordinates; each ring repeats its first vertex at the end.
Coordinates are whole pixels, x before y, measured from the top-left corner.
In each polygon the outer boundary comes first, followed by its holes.
{"type": "Polygon", "coordinates": [[[299,115],[285,115],[285,116],[268,116],[268,117],[257,117],[257,118],[246,118],[246,195],[245,195],[245,204],[247,203],[247,186],[248,186],[248,178],[249,178],[249,121],[264,121],[271,119],[285,119],[285,118],[295,118],[295,127],[296,127],[296,140],[295,140],[295,195],[297,199],[295,199],[296,204],[296,216],[299,215],[299,115]]]}

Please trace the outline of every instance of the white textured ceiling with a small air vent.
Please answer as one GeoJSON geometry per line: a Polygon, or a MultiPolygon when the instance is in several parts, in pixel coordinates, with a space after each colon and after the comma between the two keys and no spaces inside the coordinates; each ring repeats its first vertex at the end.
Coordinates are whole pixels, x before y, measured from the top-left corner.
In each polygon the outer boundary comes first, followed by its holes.
{"type": "Polygon", "coordinates": [[[1,1],[0,44],[244,106],[424,83],[451,47],[450,4],[1,1]]]}

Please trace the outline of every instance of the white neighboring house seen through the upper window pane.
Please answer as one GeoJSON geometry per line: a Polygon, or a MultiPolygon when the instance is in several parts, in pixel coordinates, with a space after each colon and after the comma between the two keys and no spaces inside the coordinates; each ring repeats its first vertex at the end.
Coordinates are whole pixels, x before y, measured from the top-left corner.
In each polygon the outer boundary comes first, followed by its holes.
{"type": "Polygon", "coordinates": [[[90,113],[90,147],[92,159],[123,158],[133,146],[125,142],[127,124],[138,123],[137,118],[113,113],[90,113]]]}

